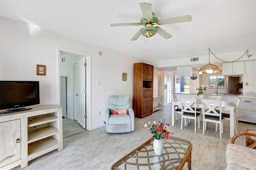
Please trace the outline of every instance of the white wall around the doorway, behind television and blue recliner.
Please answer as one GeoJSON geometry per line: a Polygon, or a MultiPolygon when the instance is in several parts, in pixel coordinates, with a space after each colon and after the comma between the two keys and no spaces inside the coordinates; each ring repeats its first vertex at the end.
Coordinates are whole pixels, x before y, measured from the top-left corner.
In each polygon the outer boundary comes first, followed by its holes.
{"type": "Polygon", "coordinates": [[[40,105],[60,103],[58,47],[92,54],[92,129],[104,126],[109,95],[128,95],[132,103],[133,64],[152,64],[48,30],[32,33],[29,24],[8,18],[0,21],[0,79],[40,81],[40,105]],[[46,65],[46,76],[36,75],[37,64],[46,65]],[[127,81],[122,81],[122,73],[127,73],[127,81]]]}

